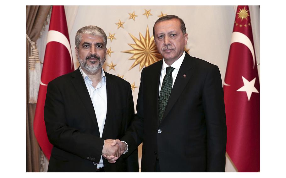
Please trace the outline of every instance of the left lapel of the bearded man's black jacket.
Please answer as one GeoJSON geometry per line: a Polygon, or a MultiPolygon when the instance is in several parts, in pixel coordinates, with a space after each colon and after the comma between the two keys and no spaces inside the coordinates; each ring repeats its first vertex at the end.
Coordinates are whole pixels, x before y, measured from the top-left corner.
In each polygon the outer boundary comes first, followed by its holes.
{"type": "Polygon", "coordinates": [[[92,119],[94,125],[96,126],[95,129],[98,131],[99,135],[99,128],[96,120],[96,115],[94,111],[93,104],[91,102],[91,97],[89,96],[89,93],[87,91],[87,88],[85,86],[85,81],[83,80],[83,77],[80,73],[80,68],[78,68],[76,71],[74,71],[71,75],[73,78],[72,83],[74,85],[75,90],[77,91],[78,95],[80,96],[80,99],[85,106],[87,113],[89,114],[90,118],[92,119]]]}

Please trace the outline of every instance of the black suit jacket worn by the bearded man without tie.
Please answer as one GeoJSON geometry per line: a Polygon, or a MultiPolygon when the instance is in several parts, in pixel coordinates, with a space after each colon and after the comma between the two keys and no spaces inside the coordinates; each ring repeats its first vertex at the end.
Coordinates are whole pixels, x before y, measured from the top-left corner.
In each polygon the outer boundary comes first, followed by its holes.
{"type": "MultiPolygon", "coordinates": [[[[120,139],[134,118],[129,82],[105,72],[107,115],[100,138],[96,114],[79,68],[47,86],[44,119],[54,145],[49,172],[95,172],[105,139],[120,139]]],[[[129,154],[130,155],[130,154],[129,154]]],[[[138,151],[115,164],[103,159],[106,172],[138,172],[138,151]]]]}

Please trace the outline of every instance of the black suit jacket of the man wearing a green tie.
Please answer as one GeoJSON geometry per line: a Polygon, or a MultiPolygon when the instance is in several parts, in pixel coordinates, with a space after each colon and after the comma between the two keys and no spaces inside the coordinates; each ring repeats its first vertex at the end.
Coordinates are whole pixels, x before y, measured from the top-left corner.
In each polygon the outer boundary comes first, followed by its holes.
{"type": "Polygon", "coordinates": [[[218,67],[186,53],[159,123],[161,69],[162,60],[142,70],[137,114],[122,140],[129,150],[143,141],[142,172],[154,171],[157,157],[162,172],[224,172],[226,120],[218,67]]]}

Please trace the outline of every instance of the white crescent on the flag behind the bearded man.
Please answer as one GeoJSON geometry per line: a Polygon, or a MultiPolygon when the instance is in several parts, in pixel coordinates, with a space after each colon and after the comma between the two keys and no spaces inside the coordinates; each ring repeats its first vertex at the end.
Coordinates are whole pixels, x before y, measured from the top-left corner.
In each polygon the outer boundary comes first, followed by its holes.
{"type": "Polygon", "coordinates": [[[63,44],[68,49],[69,55],[70,55],[70,61],[71,61],[71,69],[72,69],[73,68],[73,58],[72,58],[72,54],[71,54],[69,40],[67,39],[67,37],[64,34],[62,34],[61,32],[58,32],[56,30],[49,30],[48,35],[47,35],[47,44],[51,41],[59,42],[59,43],[63,44]]]}

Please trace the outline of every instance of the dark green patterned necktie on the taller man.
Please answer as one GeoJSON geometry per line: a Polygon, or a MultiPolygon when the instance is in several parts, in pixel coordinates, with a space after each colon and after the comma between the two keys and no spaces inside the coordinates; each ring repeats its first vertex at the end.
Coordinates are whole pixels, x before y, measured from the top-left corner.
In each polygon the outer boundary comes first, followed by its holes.
{"type": "Polygon", "coordinates": [[[166,75],[164,76],[161,91],[160,91],[160,97],[159,97],[159,121],[161,123],[165,108],[167,106],[169,96],[172,91],[172,84],[173,84],[173,77],[172,72],[174,68],[173,67],[167,67],[166,68],[166,75]]]}

